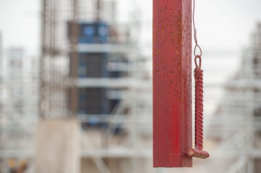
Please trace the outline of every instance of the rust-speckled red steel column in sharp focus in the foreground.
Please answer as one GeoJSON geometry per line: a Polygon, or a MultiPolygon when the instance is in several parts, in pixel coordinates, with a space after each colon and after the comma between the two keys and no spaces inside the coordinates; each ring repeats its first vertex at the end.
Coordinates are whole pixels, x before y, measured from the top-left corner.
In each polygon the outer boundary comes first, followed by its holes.
{"type": "Polygon", "coordinates": [[[192,167],[191,0],[153,0],[153,167],[192,167]]]}

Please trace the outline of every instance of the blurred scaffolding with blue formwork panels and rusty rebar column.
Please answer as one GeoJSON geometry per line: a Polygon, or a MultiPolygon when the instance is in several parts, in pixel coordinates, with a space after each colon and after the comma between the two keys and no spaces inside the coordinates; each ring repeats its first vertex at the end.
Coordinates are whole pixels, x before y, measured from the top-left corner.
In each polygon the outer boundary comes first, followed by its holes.
{"type": "Polygon", "coordinates": [[[152,83],[136,11],[121,24],[115,0],[42,2],[41,118],[81,122],[82,173],[151,168],[152,83]]]}

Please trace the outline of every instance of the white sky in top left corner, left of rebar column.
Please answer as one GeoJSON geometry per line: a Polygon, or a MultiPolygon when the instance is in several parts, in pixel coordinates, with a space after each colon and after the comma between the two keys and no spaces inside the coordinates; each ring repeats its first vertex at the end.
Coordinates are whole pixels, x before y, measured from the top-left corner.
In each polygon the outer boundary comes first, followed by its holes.
{"type": "Polygon", "coordinates": [[[0,33],[4,48],[21,46],[38,55],[40,0],[0,0],[0,33]]]}

